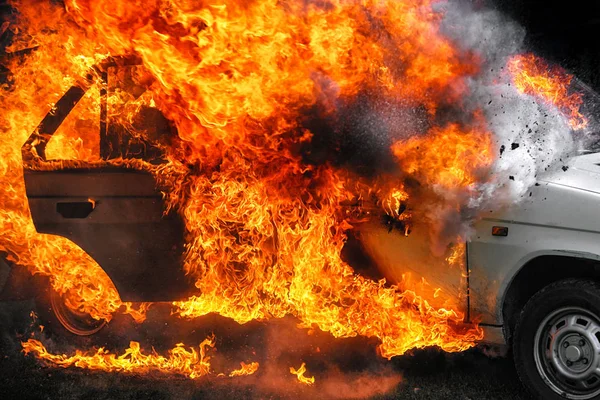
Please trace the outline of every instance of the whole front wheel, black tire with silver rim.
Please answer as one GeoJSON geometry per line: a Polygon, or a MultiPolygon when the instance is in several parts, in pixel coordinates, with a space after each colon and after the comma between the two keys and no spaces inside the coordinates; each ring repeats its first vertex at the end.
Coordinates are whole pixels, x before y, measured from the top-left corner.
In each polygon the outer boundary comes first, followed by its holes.
{"type": "Polygon", "coordinates": [[[517,321],[513,353],[535,398],[600,398],[600,284],[568,279],[537,292],[517,321]]]}

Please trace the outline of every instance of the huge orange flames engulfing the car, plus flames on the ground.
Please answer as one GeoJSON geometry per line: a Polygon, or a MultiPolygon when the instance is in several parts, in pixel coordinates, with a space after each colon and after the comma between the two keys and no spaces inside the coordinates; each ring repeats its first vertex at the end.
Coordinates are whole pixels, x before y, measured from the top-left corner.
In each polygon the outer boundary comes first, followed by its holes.
{"type": "MultiPolygon", "coordinates": [[[[135,95],[116,90],[110,114],[134,127],[141,107],[159,109],[177,130],[171,143],[161,143],[166,164],[100,159],[95,127],[102,83],[92,74],[90,90],[48,145],[48,156],[63,161],[35,167],[111,164],[155,175],[167,209],[185,221],[182,268],[198,289],[173,304],[177,316],[218,313],[246,323],[291,314],[301,326],[335,337],[376,337],[388,358],[427,346],[461,351],[482,338],[478,327],[462,326],[461,313],[430,306],[414,287],[357,275],[342,259],[352,229],[342,204],[366,199],[357,190],[366,186],[381,212],[404,220],[410,213],[399,209],[410,198],[403,180],[358,178],[335,163],[307,161],[303,151],[320,134],[303,125],[307,110],[334,119],[340,105],[377,93],[402,107],[423,107],[433,125],[392,146],[405,175],[440,191],[475,187],[493,162],[489,132],[478,123],[437,126],[435,117],[440,106],[460,103],[479,60],[440,33],[436,1],[64,3],[13,2],[20,34],[10,50],[37,50],[11,61],[13,87],[0,99],[7,133],[0,143],[0,250],[50,277],[69,307],[98,319],[121,310],[141,321],[148,305],[121,302],[78,246],[36,233],[20,148],[93,66],[134,54],[142,65],[128,79],[142,89],[135,95]]],[[[63,366],[189,376],[207,373],[204,347],[178,346],[165,358],[143,355],[132,342],[121,356],[102,349],[68,357],[39,342],[24,344],[63,366]]]]}

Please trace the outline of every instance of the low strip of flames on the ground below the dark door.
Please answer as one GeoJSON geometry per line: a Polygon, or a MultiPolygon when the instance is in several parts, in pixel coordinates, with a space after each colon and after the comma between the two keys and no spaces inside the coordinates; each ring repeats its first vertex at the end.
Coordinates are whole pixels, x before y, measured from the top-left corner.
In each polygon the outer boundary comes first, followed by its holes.
{"type": "MultiPolygon", "coordinates": [[[[96,352],[83,352],[77,350],[75,355],[52,354],[39,340],[29,339],[23,344],[26,354],[35,354],[38,358],[58,365],[63,368],[77,367],[107,372],[148,373],[157,371],[168,374],[185,375],[191,379],[197,379],[210,373],[210,357],[206,355],[209,348],[214,347],[215,338],[205,339],[198,348],[186,349],[182,343],[177,344],[169,350],[169,356],[164,357],[156,352],[144,354],[138,342],[130,342],[123,354],[111,354],[104,348],[96,352]]],[[[251,374],[258,369],[258,364],[250,364],[244,373],[236,375],[251,374]],[[254,370],[253,370],[254,369],[254,370]]],[[[243,366],[244,367],[244,366],[243,366]]],[[[233,375],[232,375],[233,376],[233,375]]]]}

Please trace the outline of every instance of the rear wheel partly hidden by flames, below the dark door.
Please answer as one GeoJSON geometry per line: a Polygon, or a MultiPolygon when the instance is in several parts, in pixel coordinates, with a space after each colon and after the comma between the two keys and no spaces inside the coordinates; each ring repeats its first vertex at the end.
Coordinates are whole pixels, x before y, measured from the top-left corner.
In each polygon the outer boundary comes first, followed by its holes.
{"type": "Polygon", "coordinates": [[[38,287],[35,297],[36,311],[40,324],[44,326],[43,331],[47,334],[63,338],[91,336],[105,327],[105,320],[95,320],[88,314],[70,310],[47,279],[38,287]]]}

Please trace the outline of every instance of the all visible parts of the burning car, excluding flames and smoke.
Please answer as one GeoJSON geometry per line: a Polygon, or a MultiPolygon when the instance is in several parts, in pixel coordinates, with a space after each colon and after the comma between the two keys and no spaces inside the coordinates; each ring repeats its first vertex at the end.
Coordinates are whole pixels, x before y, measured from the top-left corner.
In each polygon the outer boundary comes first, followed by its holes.
{"type": "MultiPolygon", "coordinates": [[[[40,167],[50,162],[46,144],[84,93],[85,85],[71,87],[23,145],[36,230],[79,245],[123,301],[186,299],[194,286],[181,268],[183,221],[175,212],[164,213],[151,173],[105,164],[40,167]]],[[[109,126],[106,104],[101,102],[101,158],[164,162],[156,143],[109,126]]],[[[159,112],[148,116],[161,127],[157,137],[168,131],[159,112]]],[[[425,276],[446,294],[440,305],[450,304],[464,312],[466,322],[483,328],[484,342],[511,346],[518,374],[535,396],[592,399],[600,396],[599,204],[600,154],[583,154],[540,177],[519,204],[489,210],[475,223],[464,253],[454,254],[453,266],[448,254],[431,252],[428,233],[418,226],[407,236],[404,229],[371,221],[360,225],[352,242],[392,280],[411,271],[425,276]]],[[[0,263],[0,291],[10,281],[9,269],[0,263]]],[[[102,328],[57,299],[50,309],[72,333],[102,328]]]]}

